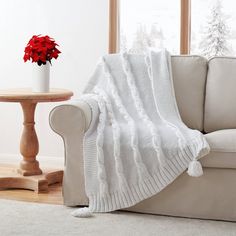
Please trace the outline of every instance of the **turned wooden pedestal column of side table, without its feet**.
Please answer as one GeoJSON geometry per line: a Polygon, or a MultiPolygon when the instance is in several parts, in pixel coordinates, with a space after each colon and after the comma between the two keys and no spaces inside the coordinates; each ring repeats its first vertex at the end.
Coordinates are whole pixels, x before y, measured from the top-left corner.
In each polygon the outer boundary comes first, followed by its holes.
{"type": "Polygon", "coordinates": [[[34,114],[37,103],[29,101],[21,102],[24,114],[24,129],[21,136],[20,152],[23,160],[20,163],[18,173],[23,176],[40,175],[42,170],[39,168],[39,162],[36,156],[39,150],[37,134],[34,128],[34,114]]]}

